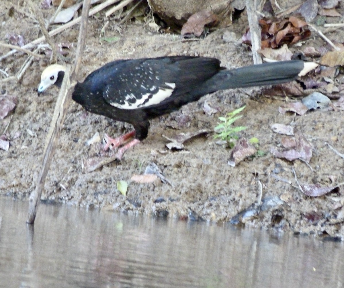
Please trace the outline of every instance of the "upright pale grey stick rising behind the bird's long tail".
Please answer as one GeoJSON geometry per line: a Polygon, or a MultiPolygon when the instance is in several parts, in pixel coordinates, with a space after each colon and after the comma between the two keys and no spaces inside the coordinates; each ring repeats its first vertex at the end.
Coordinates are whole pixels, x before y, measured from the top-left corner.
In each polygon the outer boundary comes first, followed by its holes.
{"type": "Polygon", "coordinates": [[[261,29],[258,24],[256,7],[257,0],[246,0],[248,26],[251,33],[253,63],[261,64],[261,57],[258,53],[258,50],[261,48],[261,29]]]}

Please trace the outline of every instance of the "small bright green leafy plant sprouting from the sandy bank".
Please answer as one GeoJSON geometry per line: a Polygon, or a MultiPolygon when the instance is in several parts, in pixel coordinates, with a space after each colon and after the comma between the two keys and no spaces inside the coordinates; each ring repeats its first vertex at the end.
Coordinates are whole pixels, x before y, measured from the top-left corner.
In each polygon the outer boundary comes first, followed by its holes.
{"type": "Polygon", "coordinates": [[[247,127],[245,126],[237,126],[233,127],[233,123],[243,117],[242,115],[236,116],[241,111],[245,109],[246,105],[243,107],[240,107],[232,112],[229,112],[226,114],[226,117],[218,117],[220,122],[218,122],[217,126],[214,128],[215,132],[217,133],[214,136],[214,139],[220,138],[221,140],[224,140],[227,142],[227,146],[229,148],[233,148],[235,144],[235,140],[238,140],[237,133],[245,130],[247,127]]]}

